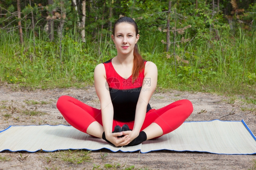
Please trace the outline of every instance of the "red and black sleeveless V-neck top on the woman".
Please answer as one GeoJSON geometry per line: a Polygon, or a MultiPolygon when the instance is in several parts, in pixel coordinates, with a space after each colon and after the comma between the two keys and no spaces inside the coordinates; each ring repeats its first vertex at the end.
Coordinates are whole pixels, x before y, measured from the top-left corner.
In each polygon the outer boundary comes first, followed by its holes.
{"type": "MultiPolygon", "coordinates": [[[[111,101],[114,108],[114,119],[122,122],[130,122],[135,119],[135,110],[141,87],[144,80],[144,69],[132,83],[132,76],[121,77],[112,65],[112,59],[103,63],[106,71],[107,83],[111,101]]],[[[146,61],[144,61],[146,64],[146,61]]],[[[147,106],[147,112],[151,109],[147,106]]]]}

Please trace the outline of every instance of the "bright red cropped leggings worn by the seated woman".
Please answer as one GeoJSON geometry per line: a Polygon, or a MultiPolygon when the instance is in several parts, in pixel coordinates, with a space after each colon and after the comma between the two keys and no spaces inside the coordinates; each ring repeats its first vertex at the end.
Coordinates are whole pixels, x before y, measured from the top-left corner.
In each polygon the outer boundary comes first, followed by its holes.
{"type": "MultiPolygon", "coordinates": [[[[61,96],[57,101],[57,108],[71,126],[84,133],[94,121],[102,125],[100,109],[90,107],[73,97],[61,96]]],[[[151,109],[146,113],[141,131],[154,122],[162,128],[163,135],[168,134],[177,129],[192,112],[192,103],[186,99],[175,101],[160,109],[151,109]]],[[[120,122],[113,120],[113,130],[116,125],[123,126],[124,124],[133,129],[134,121],[120,122]]]]}

